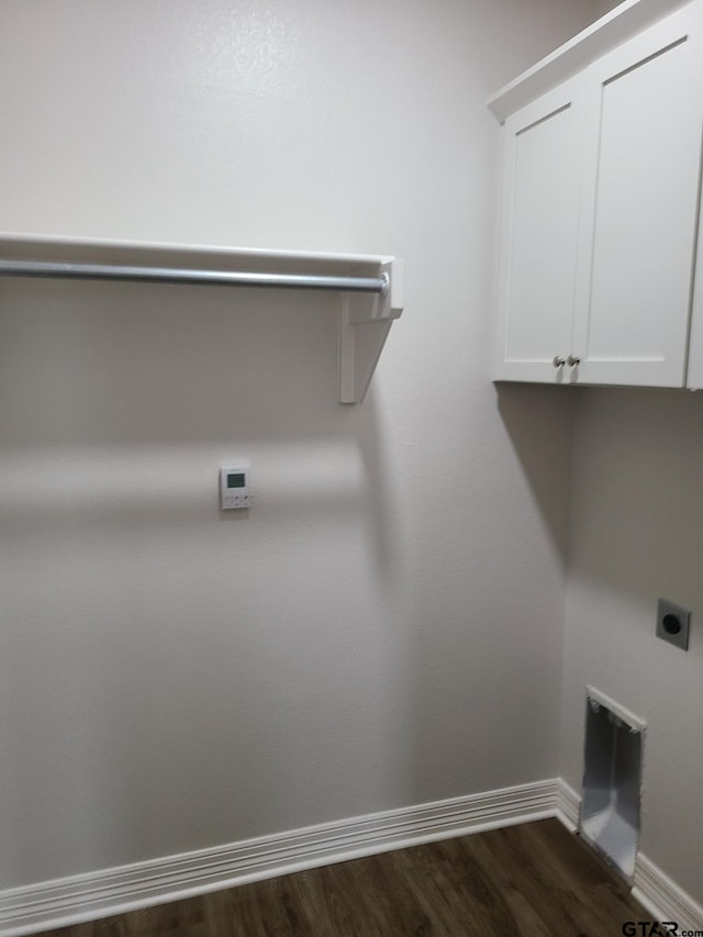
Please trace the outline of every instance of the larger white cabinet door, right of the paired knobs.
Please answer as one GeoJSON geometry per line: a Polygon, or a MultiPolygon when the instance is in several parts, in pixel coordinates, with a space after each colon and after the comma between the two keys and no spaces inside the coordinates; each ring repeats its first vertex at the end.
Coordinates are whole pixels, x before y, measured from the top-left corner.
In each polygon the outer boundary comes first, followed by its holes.
{"type": "Polygon", "coordinates": [[[703,112],[695,2],[588,70],[578,380],[684,383],[703,112]]]}

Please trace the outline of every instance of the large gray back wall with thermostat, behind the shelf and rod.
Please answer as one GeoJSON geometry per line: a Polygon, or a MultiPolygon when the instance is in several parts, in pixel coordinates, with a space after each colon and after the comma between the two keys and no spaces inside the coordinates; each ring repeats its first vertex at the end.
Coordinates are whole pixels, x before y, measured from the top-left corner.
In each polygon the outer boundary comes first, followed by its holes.
{"type": "Polygon", "coordinates": [[[330,299],[0,285],[3,886],[556,774],[569,401],[489,380],[484,101],[588,19],[1,4],[8,231],[408,272],[357,409],[330,299]]]}

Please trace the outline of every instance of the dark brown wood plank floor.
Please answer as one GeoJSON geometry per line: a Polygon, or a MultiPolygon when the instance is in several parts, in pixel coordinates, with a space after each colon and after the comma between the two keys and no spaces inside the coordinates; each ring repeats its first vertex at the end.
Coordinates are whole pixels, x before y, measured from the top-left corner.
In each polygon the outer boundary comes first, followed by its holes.
{"type": "Polygon", "coordinates": [[[617,937],[647,915],[556,819],[401,849],[52,937],[617,937]]]}

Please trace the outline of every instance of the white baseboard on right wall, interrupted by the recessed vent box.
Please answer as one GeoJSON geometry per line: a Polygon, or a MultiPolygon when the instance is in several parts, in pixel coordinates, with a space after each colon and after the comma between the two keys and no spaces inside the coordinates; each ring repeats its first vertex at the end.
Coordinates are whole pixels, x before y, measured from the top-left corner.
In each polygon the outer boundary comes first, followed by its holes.
{"type": "MultiPolygon", "coordinates": [[[[562,778],[556,783],[557,816],[568,829],[574,830],[581,799],[562,778]]],[[[703,907],[641,852],[635,860],[633,897],[651,914],[652,921],[676,921],[679,930],[703,930],[703,907]]]]}

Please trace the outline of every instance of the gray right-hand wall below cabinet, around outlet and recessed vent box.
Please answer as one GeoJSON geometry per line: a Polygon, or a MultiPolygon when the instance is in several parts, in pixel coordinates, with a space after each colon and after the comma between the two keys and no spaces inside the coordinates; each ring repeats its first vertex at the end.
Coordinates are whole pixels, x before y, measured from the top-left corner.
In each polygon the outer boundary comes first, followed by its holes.
{"type": "Polygon", "coordinates": [[[561,774],[580,789],[585,684],[647,722],[640,848],[703,899],[703,395],[579,390],[561,774]],[[688,652],[657,598],[693,611],[688,652]]]}

